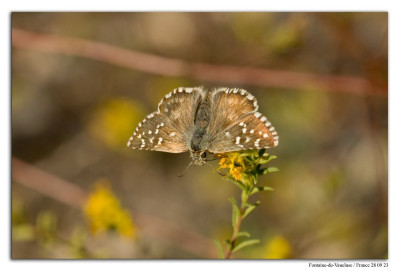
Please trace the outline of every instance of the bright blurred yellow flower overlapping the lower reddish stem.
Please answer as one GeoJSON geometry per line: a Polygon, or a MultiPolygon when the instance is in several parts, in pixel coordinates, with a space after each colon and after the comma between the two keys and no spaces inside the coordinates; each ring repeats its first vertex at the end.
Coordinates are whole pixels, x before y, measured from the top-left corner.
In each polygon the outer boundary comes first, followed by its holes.
{"type": "Polygon", "coordinates": [[[115,230],[124,237],[136,236],[136,227],[130,213],[121,207],[119,200],[104,181],[96,183],[84,206],[84,212],[95,234],[115,230]]]}

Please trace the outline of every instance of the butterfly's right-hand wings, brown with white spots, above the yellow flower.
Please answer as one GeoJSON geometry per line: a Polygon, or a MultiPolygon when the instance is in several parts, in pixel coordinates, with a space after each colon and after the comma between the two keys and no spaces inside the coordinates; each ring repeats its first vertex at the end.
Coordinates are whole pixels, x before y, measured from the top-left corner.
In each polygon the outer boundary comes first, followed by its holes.
{"type": "Polygon", "coordinates": [[[278,145],[279,136],[258,110],[256,98],[243,89],[218,89],[213,95],[208,150],[224,153],[278,145]]]}

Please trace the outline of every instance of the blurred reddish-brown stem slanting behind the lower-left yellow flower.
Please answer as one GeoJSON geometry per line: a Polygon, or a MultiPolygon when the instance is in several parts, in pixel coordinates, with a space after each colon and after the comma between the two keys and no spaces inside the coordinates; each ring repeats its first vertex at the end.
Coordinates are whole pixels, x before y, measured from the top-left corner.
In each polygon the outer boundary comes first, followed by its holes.
{"type": "MultiPolygon", "coordinates": [[[[12,158],[12,180],[42,195],[78,209],[82,208],[88,196],[84,189],[15,157],[12,158]]],[[[200,257],[216,257],[213,242],[198,233],[139,211],[132,211],[132,216],[140,231],[144,234],[165,240],[200,257]]]]}

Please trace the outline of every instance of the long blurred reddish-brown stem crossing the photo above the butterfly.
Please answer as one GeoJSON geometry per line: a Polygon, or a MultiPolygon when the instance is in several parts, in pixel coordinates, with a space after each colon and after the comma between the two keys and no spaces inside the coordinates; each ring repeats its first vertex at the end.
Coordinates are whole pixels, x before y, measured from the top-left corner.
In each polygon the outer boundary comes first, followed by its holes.
{"type": "Polygon", "coordinates": [[[12,46],[87,57],[152,74],[183,76],[200,81],[295,89],[310,87],[335,92],[387,95],[386,89],[355,76],[318,75],[230,65],[188,63],[179,59],[140,53],[101,42],[35,33],[17,28],[12,29],[12,46]]]}

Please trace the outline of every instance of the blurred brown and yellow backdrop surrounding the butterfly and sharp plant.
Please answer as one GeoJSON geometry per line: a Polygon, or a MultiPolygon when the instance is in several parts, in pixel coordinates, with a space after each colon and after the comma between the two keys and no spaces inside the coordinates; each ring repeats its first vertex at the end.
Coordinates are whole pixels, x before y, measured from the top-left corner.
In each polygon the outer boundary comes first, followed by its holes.
{"type": "MultiPolygon", "coordinates": [[[[387,13],[12,13],[12,258],[215,258],[240,191],[126,142],[179,86],[280,136],[236,258],[388,257],[387,13]]],[[[218,161],[212,162],[213,167],[218,161]]]]}

